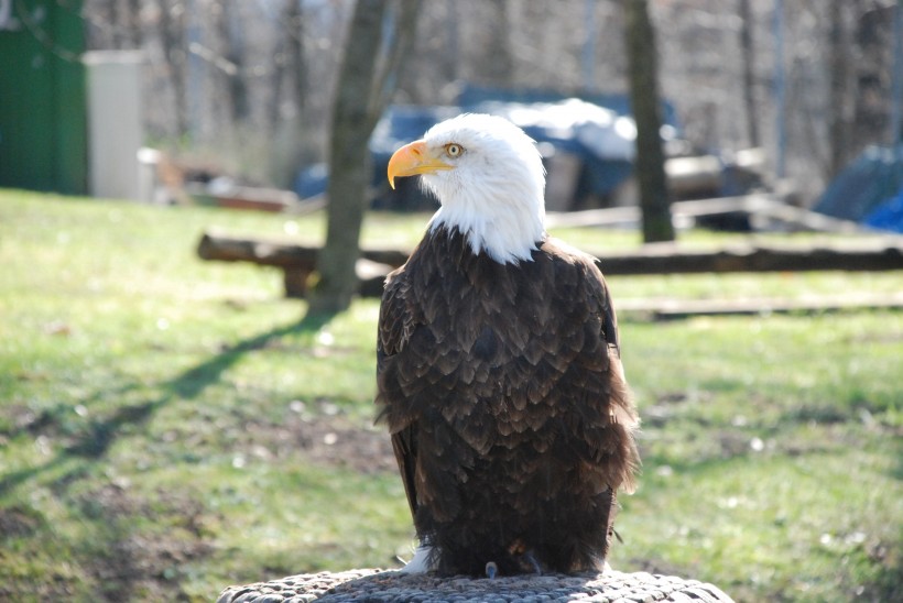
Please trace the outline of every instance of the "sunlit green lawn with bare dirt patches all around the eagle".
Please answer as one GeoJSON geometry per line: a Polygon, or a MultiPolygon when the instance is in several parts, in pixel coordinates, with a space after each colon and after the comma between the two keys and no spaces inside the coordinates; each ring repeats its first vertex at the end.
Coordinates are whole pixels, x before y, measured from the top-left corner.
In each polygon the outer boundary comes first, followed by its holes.
{"type": "MultiPolygon", "coordinates": [[[[369,216],[365,241],[410,246],[425,219],[369,216]]],[[[278,271],[197,260],[209,227],[316,241],[324,220],[0,190],[0,599],[210,601],[410,555],[372,426],[378,303],[304,319],[278,271]]],[[[610,285],[616,300],[893,293],[903,272],[610,285]]],[[[738,601],[903,600],[902,313],[621,322],[644,470],[614,568],[738,601]]]]}

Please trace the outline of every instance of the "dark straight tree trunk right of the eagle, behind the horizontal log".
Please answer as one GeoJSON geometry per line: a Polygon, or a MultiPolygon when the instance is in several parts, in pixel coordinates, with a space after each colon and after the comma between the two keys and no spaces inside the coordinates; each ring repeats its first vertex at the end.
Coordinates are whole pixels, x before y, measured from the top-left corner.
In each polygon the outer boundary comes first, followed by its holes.
{"type": "Polygon", "coordinates": [[[646,0],[627,0],[624,6],[630,103],[637,120],[635,174],[643,216],[643,241],[673,241],[674,226],[660,133],[662,103],[659,99],[655,31],[646,0]]]}

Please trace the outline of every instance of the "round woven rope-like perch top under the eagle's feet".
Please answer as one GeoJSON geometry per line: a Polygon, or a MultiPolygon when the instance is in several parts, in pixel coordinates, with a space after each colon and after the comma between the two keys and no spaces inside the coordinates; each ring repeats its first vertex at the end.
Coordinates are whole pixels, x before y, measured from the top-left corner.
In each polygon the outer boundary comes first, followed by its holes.
{"type": "Polygon", "coordinates": [[[676,575],[646,572],[577,575],[518,575],[494,580],[436,578],[372,569],[292,575],[271,582],[229,586],[217,603],[367,602],[540,602],[592,603],[732,601],[717,586],[676,575]]]}

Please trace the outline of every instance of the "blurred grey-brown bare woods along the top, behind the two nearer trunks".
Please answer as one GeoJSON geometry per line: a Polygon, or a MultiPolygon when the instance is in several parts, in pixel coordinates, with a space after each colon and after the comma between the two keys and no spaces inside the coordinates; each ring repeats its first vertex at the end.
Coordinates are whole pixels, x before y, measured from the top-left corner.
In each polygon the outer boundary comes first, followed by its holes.
{"type": "MultiPolygon", "coordinates": [[[[394,4],[394,3],[393,3],[394,4]]],[[[291,186],[327,156],[353,3],[85,0],[91,50],[146,53],[151,141],[198,167],[291,186]]],[[[888,144],[893,2],[652,0],[659,75],[701,152],[762,146],[806,200],[888,144]],[[783,125],[781,125],[783,124],[783,125]]],[[[396,9],[395,9],[396,10],[396,9]]],[[[395,102],[454,103],[464,83],[625,92],[616,0],[423,0],[395,102]]],[[[391,32],[385,32],[391,35],[391,32]]]]}

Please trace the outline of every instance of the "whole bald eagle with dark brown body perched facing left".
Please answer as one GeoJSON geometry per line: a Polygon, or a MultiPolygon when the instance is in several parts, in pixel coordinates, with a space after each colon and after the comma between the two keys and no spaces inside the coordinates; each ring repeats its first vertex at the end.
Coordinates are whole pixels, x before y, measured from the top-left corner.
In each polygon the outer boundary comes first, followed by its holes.
{"type": "Polygon", "coordinates": [[[600,571],[639,419],[602,274],[545,232],[535,143],[463,114],[388,175],[440,202],[379,318],[376,403],[422,545],[405,571],[600,571]]]}

